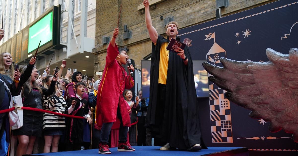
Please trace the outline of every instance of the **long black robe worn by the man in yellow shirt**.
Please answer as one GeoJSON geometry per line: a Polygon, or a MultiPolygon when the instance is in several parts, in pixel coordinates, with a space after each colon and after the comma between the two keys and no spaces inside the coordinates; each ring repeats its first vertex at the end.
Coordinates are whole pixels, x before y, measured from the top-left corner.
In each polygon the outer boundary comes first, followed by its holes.
{"type": "Polygon", "coordinates": [[[158,110],[159,56],[164,42],[169,40],[159,35],[156,45],[152,43],[150,100],[145,126],[150,127],[153,138],[161,138],[163,142],[170,143],[171,147],[187,149],[199,143],[202,148],[206,148],[201,140],[193,62],[187,46],[184,48],[187,65],[176,52],[169,52],[164,113],[158,110]],[[164,115],[162,125],[160,115],[164,115]]]}

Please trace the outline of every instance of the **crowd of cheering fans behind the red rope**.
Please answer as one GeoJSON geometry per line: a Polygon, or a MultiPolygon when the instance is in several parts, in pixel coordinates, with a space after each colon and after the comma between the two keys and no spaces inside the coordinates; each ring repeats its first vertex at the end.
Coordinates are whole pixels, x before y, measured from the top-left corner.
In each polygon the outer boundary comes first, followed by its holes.
{"type": "MultiPolygon", "coordinates": [[[[0,100],[0,110],[9,108],[12,100],[10,95],[21,95],[23,106],[85,118],[24,110],[23,126],[12,130],[12,135],[18,138],[16,155],[98,148],[100,128],[95,121],[95,108],[100,77],[99,80],[90,80],[80,71],[72,73],[67,70],[63,78],[62,71],[66,64],[61,64],[60,70],[56,72],[53,69],[52,73],[47,66],[46,74],[41,75],[34,66],[35,58],[31,58],[27,66],[20,65],[18,69],[15,69],[12,60],[9,52],[0,54],[0,79],[4,81],[0,85],[0,93],[4,95],[3,100],[0,100]]],[[[152,146],[150,132],[146,132],[144,126],[148,99],[142,98],[141,90],[135,93],[139,95],[136,99],[132,99],[133,94],[131,90],[123,94],[132,125],[128,141],[133,146],[152,146]]],[[[6,139],[6,143],[1,142],[1,146],[7,152],[10,133],[8,113],[0,114],[0,129],[2,138],[6,139]]],[[[117,147],[118,136],[119,129],[112,129],[110,147],[117,147]]]]}

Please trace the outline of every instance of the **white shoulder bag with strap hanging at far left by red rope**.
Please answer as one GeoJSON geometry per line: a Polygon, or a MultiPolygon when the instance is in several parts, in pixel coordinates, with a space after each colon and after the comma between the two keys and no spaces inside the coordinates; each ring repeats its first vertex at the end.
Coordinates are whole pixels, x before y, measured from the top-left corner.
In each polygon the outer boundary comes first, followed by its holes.
{"type": "MultiPolygon", "coordinates": [[[[4,84],[6,89],[10,92],[7,84],[3,82],[0,78],[0,81],[4,84]]],[[[23,101],[21,97],[22,93],[18,96],[12,97],[10,93],[10,104],[9,108],[12,107],[22,107],[23,106],[23,101]]],[[[11,126],[11,129],[19,129],[23,126],[24,120],[23,120],[23,109],[15,109],[14,111],[8,112],[8,117],[9,117],[9,124],[11,126]]]]}

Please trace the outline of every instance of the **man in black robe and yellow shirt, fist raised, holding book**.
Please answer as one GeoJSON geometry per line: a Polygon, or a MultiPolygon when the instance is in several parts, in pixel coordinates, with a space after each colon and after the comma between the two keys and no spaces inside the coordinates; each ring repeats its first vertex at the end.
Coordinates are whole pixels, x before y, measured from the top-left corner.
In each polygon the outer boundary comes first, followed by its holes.
{"type": "Polygon", "coordinates": [[[177,22],[166,26],[167,39],[152,26],[149,1],[144,0],[145,21],[152,43],[150,101],[145,126],[150,127],[154,146],[160,150],[206,148],[201,140],[193,62],[187,47],[169,52],[171,38],[178,35],[177,22]]]}

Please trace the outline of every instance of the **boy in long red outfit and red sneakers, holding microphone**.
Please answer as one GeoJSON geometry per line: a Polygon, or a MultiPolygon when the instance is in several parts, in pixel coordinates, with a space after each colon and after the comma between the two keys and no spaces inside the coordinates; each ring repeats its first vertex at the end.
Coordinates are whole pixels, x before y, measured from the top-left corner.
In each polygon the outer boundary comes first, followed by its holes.
{"type": "MultiPolygon", "coordinates": [[[[118,117],[120,120],[118,151],[135,151],[127,143],[128,126],[130,118],[126,102],[122,96],[124,89],[134,87],[134,79],[127,75],[121,66],[127,63],[128,55],[125,49],[119,49],[115,40],[119,31],[115,28],[113,37],[108,45],[108,54],[105,59],[103,78],[98,87],[96,122],[101,127],[98,153],[110,154],[108,139],[113,123],[118,117]]],[[[134,71],[133,65],[128,67],[134,71]]]]}

